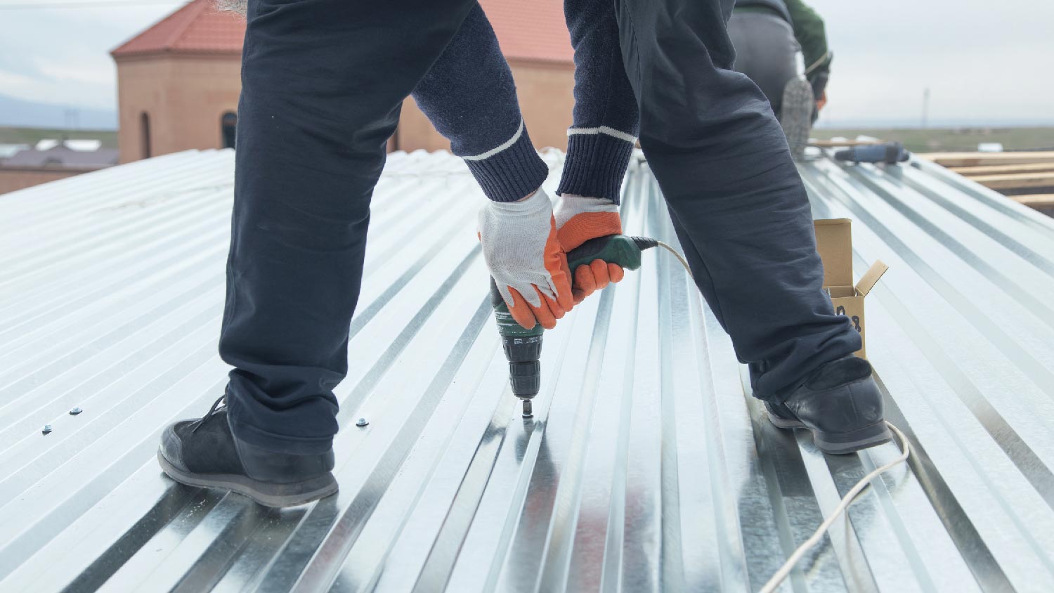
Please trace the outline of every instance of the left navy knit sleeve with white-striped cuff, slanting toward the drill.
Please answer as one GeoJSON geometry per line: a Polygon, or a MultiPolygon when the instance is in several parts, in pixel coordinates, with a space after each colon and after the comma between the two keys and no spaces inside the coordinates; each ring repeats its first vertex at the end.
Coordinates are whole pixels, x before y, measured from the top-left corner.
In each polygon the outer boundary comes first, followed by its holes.
{"type": "Polygon", "coordinates": [[[450,140],[451,152],[465,159],[488,198],[515,201],[542,186],[549,167],[531,144],[512,72],[479,5],[413,98],[450,140]]]}

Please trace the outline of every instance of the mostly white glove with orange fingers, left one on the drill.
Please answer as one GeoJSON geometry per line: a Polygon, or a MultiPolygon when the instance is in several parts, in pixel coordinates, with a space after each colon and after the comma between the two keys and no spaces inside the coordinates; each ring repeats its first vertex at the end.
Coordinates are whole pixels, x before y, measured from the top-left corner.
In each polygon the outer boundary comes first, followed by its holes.
{"type": "Polygon", "coordinates": [[[480,209],[480,241],[509,313],[530,330],[546,330],[574,307],[567,255],[557,240],[552,201],[542,190],[518,202],[488,200],[480,209]]]}

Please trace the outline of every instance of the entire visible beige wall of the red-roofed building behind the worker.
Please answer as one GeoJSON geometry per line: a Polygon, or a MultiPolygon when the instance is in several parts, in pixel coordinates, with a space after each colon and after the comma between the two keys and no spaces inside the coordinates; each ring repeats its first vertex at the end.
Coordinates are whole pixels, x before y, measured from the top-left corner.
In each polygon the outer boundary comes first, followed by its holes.
{"type": "MultiPolygon", "coordinates": [[[[539,149],[567,146],[574,104],[571,64],[512,62],[520,105],[539,149]]],[[[220,117],[236,111],[240,58],[233,55],[122,57],[117,63],[120,162],[139,160],[142,114],[150,117],[151,156],[222,147],[220,117]]],[[[449,150],[413,99],[403,105],[394,150],[449,150]]]]}

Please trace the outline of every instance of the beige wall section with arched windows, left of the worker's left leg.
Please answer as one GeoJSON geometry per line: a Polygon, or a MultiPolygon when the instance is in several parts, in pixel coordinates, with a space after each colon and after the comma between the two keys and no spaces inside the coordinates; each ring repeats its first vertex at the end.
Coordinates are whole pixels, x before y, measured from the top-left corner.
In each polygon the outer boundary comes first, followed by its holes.
{"type": "Polygon", "coordinates": [[[220,118],[236,112],[241,91],[236,55],[155,55],[117,62],[120,162],[139,160],[142,114],[151,156],[223,146],[220,118]]]}

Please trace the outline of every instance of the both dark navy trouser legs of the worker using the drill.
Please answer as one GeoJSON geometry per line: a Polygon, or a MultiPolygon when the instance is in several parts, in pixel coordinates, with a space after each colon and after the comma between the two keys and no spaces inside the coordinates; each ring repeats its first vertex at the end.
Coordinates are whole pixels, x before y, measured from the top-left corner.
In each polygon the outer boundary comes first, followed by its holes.
{"type": "MultiPolygon", "coordinates": [[[[731,4],[622,0],[618,45],[641,145],[699,288],[750,363],[756,394],[779,399],[860,338],[821,290],[808,202],[779,124],[729,70],[731,4]]],[[[386,142],[475,5],[250,0],[220,337],[239,439],[285,453],[330,448],[386,142]]]]}

